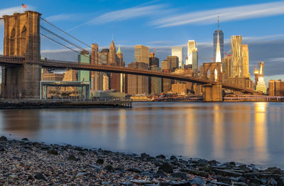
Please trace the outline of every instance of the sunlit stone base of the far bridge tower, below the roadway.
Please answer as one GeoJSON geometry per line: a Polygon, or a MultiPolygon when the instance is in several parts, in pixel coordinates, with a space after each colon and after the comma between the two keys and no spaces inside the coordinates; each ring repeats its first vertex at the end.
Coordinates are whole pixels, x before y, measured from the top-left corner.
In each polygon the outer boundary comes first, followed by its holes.
{"type": "Polygon", "coordinates": [[[207,84],[203,86],[203,102],[223,102],[222,85],[207,84]]]}

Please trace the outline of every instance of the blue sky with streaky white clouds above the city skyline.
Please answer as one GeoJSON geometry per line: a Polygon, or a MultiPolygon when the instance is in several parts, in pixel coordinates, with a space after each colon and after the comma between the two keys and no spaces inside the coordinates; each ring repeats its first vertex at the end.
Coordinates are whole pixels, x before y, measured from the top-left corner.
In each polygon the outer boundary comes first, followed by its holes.
{"type": "MultiPolygon", "coordinates": [[[[196,40],[199,64],[212,58],[212,33],[224,31],[225,48],[231,35],[242,35],[249,44],[250,72],[258,60],[265,62],[266,81],[284,79],[284,1],[1,1],[0,15],[29,10],[100,49],[121,45],[127,63],[133,61],[133,45],[146,45],[160,61],[174,45],[196,40]]],[[[184,49],[186,51],[186,48],[184,49]]],[[[186,55],[186,53],[185,53],[186,55]]]]}

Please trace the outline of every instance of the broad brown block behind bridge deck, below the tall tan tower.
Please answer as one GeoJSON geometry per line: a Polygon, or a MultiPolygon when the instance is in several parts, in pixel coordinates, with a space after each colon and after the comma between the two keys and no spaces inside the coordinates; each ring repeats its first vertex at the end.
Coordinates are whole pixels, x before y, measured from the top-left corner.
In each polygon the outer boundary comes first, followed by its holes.
{"type": "MultiPolygon", "coordinates": [[[[148,70],[148,64],[145,62],[131,62],[129,67],[148,70]]],[[[129,95],[148,94],[149,78],[142,75],[127,75],[127,88],[127,93],[129,95]]]]}

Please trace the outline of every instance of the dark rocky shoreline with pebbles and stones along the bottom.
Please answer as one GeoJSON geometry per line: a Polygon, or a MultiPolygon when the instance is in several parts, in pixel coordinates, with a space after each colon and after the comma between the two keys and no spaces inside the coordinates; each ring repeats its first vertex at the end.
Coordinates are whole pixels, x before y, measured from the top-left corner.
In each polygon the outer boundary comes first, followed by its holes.
{"type": "Polygon", "coordinates": [[[0,137],[0,185],[284,185],[280,168],[0,137]]]}

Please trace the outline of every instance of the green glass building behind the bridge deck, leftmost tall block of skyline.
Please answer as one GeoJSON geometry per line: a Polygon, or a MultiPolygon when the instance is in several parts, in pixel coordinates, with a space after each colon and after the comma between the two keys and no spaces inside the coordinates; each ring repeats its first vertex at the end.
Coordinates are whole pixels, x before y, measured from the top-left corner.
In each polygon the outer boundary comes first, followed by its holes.
{"type": "MultiPolygon", "coordinates": [[[[87,50],[82,50],[80,55],[78,55],[78,61],[82,63],[90,63],[91,56],[87,50]]],[[[89,70],[78,70],[78,81],[80,82],[90,82],[91,74],[89,70]]]]}

